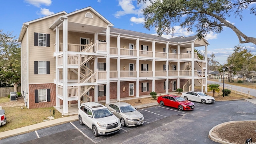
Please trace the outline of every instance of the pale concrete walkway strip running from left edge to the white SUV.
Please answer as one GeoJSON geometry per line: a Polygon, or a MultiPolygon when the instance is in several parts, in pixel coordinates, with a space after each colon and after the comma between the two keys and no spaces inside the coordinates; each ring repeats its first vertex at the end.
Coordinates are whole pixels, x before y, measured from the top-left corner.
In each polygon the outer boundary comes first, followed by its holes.
{"type": "Polygon", "coordinates": [[[54,119],[54,120],[49,120],[49,121],[46,121],[46,122],[40,122],[38,124],[32,124],[30,126],[24,126],[24,127],[21,127],[21,128],[16,128],[14,130],[7,130],[7,131],[4,131],[4,132],[0,132],[0,139],[8,138],[10,136],[16,136],[16,135],[19,135],[19,134],[25,134],[25,133],[28,133],[28,132],[33,132],[35,130],[40,130],[42,128],[48,128],[48,127],[51,127],[51,126],[56,126],[56,125],[64,124],[64,123],[67,123],[67,122],[74,122],[76,120],[78,120],[78,116],[68,116],[68,117],[64,117],[64,118],[57,118],[57,119],[54,119]]]}

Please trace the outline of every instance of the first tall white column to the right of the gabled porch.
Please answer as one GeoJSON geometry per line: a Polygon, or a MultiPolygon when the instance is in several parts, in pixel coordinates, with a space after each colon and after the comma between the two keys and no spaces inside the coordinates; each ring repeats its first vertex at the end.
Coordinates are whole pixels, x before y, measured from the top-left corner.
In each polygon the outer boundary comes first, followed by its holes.
{"type": "Polygon", "coordinates": [[[120,101],[120,34],[118,34],[117,36],[117,55],[118,55],[118,58],[117,58],[117,88],[116,88],[116,91],[117,91],[117,100],[120,101]]]}

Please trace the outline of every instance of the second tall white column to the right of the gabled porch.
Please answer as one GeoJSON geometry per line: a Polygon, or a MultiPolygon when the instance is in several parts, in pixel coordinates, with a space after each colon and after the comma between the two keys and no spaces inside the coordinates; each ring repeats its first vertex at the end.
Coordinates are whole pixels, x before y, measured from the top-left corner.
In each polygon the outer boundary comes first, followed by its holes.
{"type": "Polygon", "coordinates": [[[136,40],[136,50],[137,50],[137,60],[136,60],[136,70],[137,70],[137,80],[136,80],[136,98],[139,98],[140,90],[140,38],[136,40]]]}

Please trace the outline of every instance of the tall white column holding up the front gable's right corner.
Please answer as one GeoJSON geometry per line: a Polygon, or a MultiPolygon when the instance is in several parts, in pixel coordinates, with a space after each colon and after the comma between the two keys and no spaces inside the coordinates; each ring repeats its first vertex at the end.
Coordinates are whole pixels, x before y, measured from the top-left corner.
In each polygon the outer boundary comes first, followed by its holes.
{"type": "Polygon", "coordinates": [[[106,104],[110,103],[110,26],[106,29],[107,42],[107,56],[106,56],[106,71],[107,71],[107,85],[106,85],[106,104]]]}

